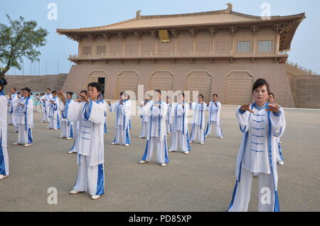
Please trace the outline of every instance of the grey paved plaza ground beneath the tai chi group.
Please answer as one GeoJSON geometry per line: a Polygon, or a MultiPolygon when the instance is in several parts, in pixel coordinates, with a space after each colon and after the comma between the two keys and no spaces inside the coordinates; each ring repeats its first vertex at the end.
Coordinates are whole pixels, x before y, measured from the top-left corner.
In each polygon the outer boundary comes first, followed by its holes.
{"type": "MultiPolygon", "coordinates": [[[[235,160],[241,133],[235,106],[223,106],[224,139],[206,138],[191,144],[191,153],[169,153],[170,164],[138,164],[145,139],[138,139],[141,120],[132,116],[129,147],[113,146],[114,113],[107,115],[105,135],[105,196],[69,195],[77,174],[76,154],[67,154],[73,140],[60,140],[60,130],[46,130],[34,113],[34,144],[11,145],[8,126],[10,176],[0,181],[2,211],[226,211],[235,185],[235,160]],[[58,191],[58,204],[48,204],[48,188],[58,191]]],[[[279,171],[282,211],[320,211],[320,111],[285,109],[287,129],[282,137],[284,166],[279,171]]],[[[206,117],[207,118],[207,117],[206,117]]],[[[191,125],[189,125],[189,130],[191,125]]],[[[168,135],[168,146],[171,136],[168,135]]],[[[154,153],[154,157],[156,157],[154,153]]],[[[252,183],[250,211],[257,210],[257,179],[252,183]]]]}

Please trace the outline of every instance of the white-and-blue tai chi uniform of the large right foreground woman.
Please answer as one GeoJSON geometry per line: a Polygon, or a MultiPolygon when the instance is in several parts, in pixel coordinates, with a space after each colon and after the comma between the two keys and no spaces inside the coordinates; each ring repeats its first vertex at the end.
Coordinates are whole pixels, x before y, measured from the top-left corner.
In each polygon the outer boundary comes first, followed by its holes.
{"type": "Polygon", "coordinates": [[[277,194],[277,137],[285,127],[282,108],[279,113],[265,111],[265,106],[256,103],[250,105],[249,111],[237,108],[236,115],[242,132],[242,142],[237,157],[235,176],[237,181],[228,211],[245,212],[249,201],[252,177],[259,178],[258,211],[277,212],[280,210],[277,194]]]}

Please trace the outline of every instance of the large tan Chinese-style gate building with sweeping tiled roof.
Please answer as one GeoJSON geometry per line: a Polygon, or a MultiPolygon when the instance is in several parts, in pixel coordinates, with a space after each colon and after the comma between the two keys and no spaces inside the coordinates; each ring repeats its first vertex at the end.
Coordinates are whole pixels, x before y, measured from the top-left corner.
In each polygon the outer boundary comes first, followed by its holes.
{"type": "Polygon", "coordinates": [[[287,74],[287,51],[305,18],[250,16],[220,11],[141,16],[95,28],[57,29],[78,42],[78,55],[64,91],[78,92],[89,82],[105,87],[105,98],[119,92],[198,91],[210,100],[218,94],[224,104],[252,101],[251,88],[267,79],[282,106],[294,107],[287,74]]]}

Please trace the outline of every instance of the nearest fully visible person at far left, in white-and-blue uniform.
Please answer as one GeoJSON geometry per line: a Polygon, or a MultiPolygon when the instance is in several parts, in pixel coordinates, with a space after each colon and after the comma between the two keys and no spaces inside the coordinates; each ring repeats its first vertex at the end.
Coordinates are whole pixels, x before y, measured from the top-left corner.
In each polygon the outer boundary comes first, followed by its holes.
{"type": "Polygon", "coordinates": [[[33,143],[33,101],[30,98],[31,89],[21,90],[22,98],[18,102],[16,123],[18,125],[18,140],[13,145],[29,147],[33,143]]]}

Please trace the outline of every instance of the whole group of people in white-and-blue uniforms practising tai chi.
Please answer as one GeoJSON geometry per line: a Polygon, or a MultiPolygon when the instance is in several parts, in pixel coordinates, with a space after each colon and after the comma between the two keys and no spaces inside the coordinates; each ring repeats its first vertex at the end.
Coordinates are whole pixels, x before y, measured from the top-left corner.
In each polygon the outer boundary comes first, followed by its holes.
{"type": "MultiPolygon", "coordinates": [[[[5,79],[0,80],[0,123],[1,123],[1,152],[0,152],[0,179],[9,175],[9,160],[6,150],[7,122],[4,115],[7,113],[8,99],[4,97],[5,79]]],[[[14,145],[22,144],[28,147],[32,144],[33,102],[30,101],[30,92],[24,88],[22,97],[10,97],[9,108],[16,103],[16,126],[18,141],[14,145]]],[[[247,211],[250,200],[252,177],[259,177],[259,189],[269,188],[270,201],[259,203],[260,211],[278,211],[279,200],[277,195],[277,163],[283,161],[279,148],[279,137],[285,130],[283,109],[277,103],[268,102],[269,85],[265,79],[257,79],[252,87],[254,103],[245,103],[239,106],[236,117],[240,123],[242,142],[236,162],[236,183],[233,198],[228,211],[247,211]]],[[[100,198],[105,193],[104,167],[104,134],[107,132],[107,106],[110,112],[116,114],[115,137],[112,145],[131,145],[129,131],[131,130],[131,106],[126,92],[120,93],[116,103],[105,102],[102,96],[102,87],[98,83],[90,83],[87,91],[81,91],[79,99],[72,99],[73,93],[50,91],[41,98],[43,102],[43,120],[49,121],[47,129],[58,130],[61,125],[60,138],[73,139],[74,144],[68,153],[78,153],[78,175],[75,186],[69,192],[77,194],[88,192],[92,199],[100,198]],[[60,113],[62,117],[60,118],[60,113]]],[[[274,97],[274,95],[272,94],[274,97]]],[[[220,126],[221,103],[218,95],[213,94],[213,101],[206,104],[203,95],[198,95],[198,101],[186,103],[184,94],[177,96],[176,103],[161,100],[161,91],[154,91],[154,98],[146,95],[139,103],[139,116],[142,120],[142,131],[139,138],[146,138],[146,145],[140,164],[150,162],[156,150],[157,161],[161,166],[169,163],[169,152],[181,151],[188,154],[190,144],[199,142],[204,144],[215,125],[217,137],[223,138],[220,126]],[[188,115],[192,111],[191,132],[188,132],[188,115]],[[205,113],[208,111],[208,120],[205,113]],[[171,145],[167,148],[167,135],[171,134],[171,145]]],[[[283,163],[283,162],[282,162],[283,163]]],[[[260,192],[260,199],[262,193],[260,192]]]]}

